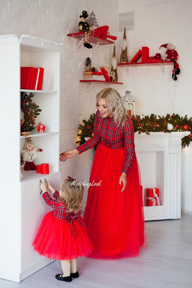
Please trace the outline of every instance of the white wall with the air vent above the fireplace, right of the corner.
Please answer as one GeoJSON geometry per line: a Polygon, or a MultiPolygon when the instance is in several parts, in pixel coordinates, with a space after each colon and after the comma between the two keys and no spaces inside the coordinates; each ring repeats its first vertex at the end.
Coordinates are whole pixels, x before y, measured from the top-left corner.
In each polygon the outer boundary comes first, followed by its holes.
{"type": "MultiPolygon", "coordinates": [[[[172,80],[172,66],[142,66],[118,69],[119,92],[126,90],[135,96],[136,114],[166,116],[167,113],[192,117],[191,77],[192,77],[192,1],[191,0],[135,0],[119,1],[118,13],[135,13],[135,29],[126,31],[128,60],[142,46],[149,47],[149,56],[161,53],[164,58],[166,48],[159,46],[173,43],[179,55],[180,74],[172,80]]],[[[118,59],[120,59],[123,32],[118,37],[118,59]]],[[[182,209],[192,211],[191,188],[192,143],[182,151],[182,209]]],[[[147,165],[147,163],[146,163],[147,165]]]]}

